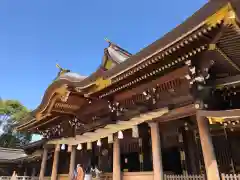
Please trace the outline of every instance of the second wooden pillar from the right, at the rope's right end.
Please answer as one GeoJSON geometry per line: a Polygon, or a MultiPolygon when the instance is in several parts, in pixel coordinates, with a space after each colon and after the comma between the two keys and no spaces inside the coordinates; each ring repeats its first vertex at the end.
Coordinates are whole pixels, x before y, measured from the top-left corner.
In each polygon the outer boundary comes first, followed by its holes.
{"type": "Polygon", "coordinates": [[[156,122],[149,123],[149,126],[151,128],[154,180],[163,180],[164,175],[163,175],[159,126],[158,126],[158,123],[156,122]]]}

